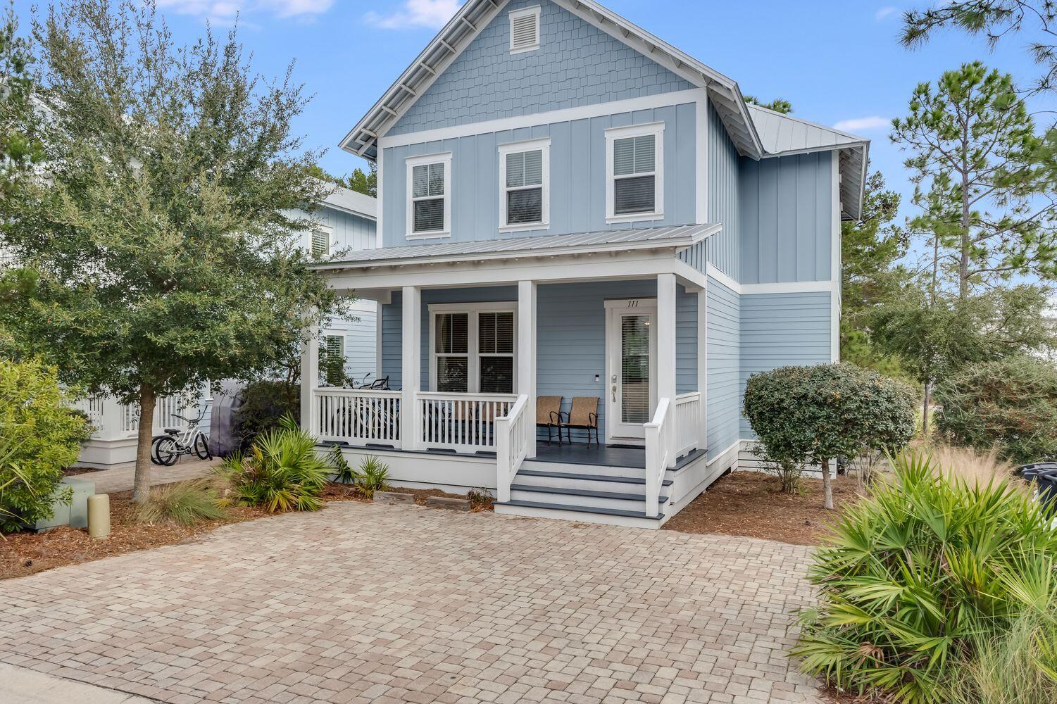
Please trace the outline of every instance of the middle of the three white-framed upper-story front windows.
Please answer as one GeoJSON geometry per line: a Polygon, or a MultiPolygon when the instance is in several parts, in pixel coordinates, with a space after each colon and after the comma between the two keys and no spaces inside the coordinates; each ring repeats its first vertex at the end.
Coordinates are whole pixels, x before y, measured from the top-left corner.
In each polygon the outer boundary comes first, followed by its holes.
{"type": "Polygon", "coordinates": [[[551,141],[499,148],[499,229],[541,229],[551,218],[551,141]]]}

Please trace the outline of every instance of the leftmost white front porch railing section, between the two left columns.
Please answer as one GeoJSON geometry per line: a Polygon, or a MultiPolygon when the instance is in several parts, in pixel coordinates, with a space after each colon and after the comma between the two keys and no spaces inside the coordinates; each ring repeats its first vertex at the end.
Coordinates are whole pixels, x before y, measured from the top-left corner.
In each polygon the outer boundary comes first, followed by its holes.
{"type": "Polygon", "coordinates": [[[313,397],[320,441],[400,447],[400,391],[326,388],[313,397]]]}

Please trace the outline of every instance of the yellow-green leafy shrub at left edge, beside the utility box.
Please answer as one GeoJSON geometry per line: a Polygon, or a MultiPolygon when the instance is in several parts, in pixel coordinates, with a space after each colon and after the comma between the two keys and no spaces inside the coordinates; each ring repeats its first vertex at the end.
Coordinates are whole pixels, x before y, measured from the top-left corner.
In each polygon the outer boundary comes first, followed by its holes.
{"type": "Polygon", "coordinates": [[[52,517],[62,469],[77,461],[90,433],[68,401],[54,369],[0,359],[0,532],[52,517]]]}

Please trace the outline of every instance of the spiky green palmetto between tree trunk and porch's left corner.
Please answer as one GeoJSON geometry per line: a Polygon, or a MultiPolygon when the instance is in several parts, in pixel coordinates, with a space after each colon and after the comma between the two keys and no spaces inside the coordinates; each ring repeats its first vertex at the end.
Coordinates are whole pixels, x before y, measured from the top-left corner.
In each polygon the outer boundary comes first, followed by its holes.
{"type": "Polygon", "coordinates": [[[319,511],[332,467],[316,453],[316,441],[290,416],[261,434],[248,455],[224,460],[219,473],[231,485],[235,502],[268,513],[319,511]]]}

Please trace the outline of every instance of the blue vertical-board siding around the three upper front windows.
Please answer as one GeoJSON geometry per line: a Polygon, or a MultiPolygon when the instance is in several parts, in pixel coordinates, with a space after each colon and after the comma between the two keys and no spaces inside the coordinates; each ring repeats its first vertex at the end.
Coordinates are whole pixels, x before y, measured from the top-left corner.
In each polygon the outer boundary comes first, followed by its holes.
{"type": "Polygon", "coordinates": [[[693,224],[696,112],[696,104],[687,103],[383,149],[384,246],[408,244],[406,160],[448,152],[451,153],[451,235],[443,239],[415,238],[414,243],[693,224]],[[607,224],[606,130],[656,122],[665,126],[664,220],[607,224]],[[500,233],[499,147],[543,137],[551,140],[550,227],[500,233]]]}

